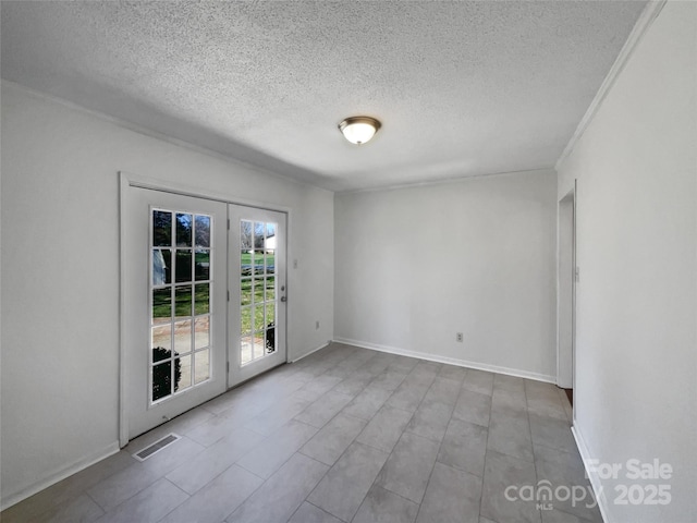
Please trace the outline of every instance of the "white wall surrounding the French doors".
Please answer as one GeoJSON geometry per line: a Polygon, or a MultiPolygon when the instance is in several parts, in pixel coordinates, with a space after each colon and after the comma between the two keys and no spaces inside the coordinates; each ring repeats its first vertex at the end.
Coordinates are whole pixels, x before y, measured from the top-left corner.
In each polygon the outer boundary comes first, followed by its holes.
{"type": "Polygon", "coordinates": [[[332,193],[3,83],[3,506],[118,441],[122,170],[290,208],[289,358],[332,337],[332,193]]]}

